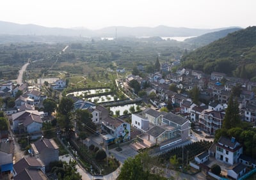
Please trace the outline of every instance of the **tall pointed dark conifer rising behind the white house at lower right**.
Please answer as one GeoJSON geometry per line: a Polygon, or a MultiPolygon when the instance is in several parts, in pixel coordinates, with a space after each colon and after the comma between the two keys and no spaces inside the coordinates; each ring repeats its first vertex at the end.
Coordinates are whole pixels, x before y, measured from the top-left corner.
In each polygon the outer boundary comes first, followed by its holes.
{"type": "Polygon", "coordinates": [[[231,94],[228,100],[228,107],[225,111],[222,127],[229,130],[230,128],[236,128],[239,124],[241,124],[241,119],[239,116],[238,103],[233,100],[233,95],[231,94]]]}

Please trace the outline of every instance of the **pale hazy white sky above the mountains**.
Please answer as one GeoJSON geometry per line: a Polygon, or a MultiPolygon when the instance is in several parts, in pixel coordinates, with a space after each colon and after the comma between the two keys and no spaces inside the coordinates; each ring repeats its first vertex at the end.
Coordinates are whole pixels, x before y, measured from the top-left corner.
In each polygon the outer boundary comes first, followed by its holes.
{"type": "Polygon", "coordinates": [[[255,0],[4,0],[0,1],[0,20],[89,29],[248,27],[256,25],[255,8],[255,0]]]}

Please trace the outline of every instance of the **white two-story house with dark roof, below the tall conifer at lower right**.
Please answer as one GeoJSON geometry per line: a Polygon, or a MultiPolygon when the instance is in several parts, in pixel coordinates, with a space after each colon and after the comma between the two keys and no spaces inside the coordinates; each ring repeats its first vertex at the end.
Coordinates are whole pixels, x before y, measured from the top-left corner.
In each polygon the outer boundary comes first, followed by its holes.
{"type": "Polygon", "coordinates": [[[216,144],[216,160],[234,165],[238,162],[241,154],[243,154],[243,146],[234,137],[232,139],[220,137],[216,144]]]}

